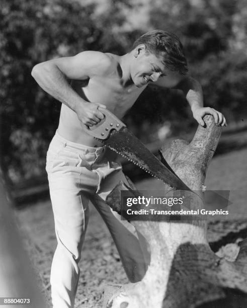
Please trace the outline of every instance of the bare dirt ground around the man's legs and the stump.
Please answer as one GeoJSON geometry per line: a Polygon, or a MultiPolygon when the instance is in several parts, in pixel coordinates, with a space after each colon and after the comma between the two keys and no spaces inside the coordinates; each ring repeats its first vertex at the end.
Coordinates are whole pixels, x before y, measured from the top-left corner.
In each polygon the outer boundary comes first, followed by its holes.
{"type": "MultiPolygon", "coordinates": [[[[229,190],[233,203],[234,219],[211,221],[209,242],[219,256],[234,260],[238,252],[237,242],[247,238],[245,214],[247,187],[247,149],[232,151],[212,160],[206,179],[208,190],[229,190]],[[244,214],[244,215],[243,215],[244,214]]],[[[147,179],[135,183],[137,189],[162,189],[162,182],[147,179]]],[[[50,303],[50,266],[56,247],[53,214],[50,201],[40,201],[22,210],[16,210],[19,226],[26,236],[25,247],[36,268],[42,292],[50,303]]],[[[91,219],[83,247],[80,278],[75,308],[100,308],[104,286],[107,283],[126,283],[118,252],[107,227],[98,212],[91,207],[91,219]]]]}

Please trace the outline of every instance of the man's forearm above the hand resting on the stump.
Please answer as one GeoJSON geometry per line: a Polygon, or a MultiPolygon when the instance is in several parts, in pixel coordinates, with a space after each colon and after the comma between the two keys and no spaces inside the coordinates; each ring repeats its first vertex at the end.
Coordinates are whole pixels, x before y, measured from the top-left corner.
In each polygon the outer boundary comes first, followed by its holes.
{"type": "Polygon", "coordinates": [[[198,81],[187,77],[180,83],[180,89],[184,92],[192,112],[203,107],[202,87],[198,81]]]}

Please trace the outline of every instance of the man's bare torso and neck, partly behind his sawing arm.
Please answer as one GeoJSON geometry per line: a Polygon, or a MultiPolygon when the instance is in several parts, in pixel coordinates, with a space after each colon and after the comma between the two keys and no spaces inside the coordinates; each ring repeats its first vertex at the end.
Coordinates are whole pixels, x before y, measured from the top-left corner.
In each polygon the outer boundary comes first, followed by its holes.
{"type": "MultiPolygon", "coordinates": [[[[119,56],[107,55],[112,63],[107,73],[99,71],[90,79],[73,80],[71,87],[84,100],[105,105],[108,110],[121,119],[146,86],[141,88],[137,88],[133,84],[123,86],[119,56]]],[[[100,141],[84,131],[76,113],[64,104],[61,107],[58,133],[72,142],[88,146],[102,145],[100,141]]]]}

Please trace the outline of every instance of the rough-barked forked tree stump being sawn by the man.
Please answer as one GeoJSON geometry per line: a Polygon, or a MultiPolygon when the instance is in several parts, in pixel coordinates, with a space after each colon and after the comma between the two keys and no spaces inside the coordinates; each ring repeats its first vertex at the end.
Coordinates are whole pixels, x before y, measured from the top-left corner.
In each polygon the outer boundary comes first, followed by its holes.
{"type": "MultiPolygon", "coordinates": [[[[189,144],[174,140],[161,149],[184,183],[199,191],[199,194],[186,192],[191,194],[191,209],[204,208],[202,190],[206,170],[221,133],[212,116],[205,116],[204,120],[206,127],[199,126],[189,144]]],[[[113,209],[120,209],[120,191],[127,189],[119,183],[110,193],[107,202],[113,209]]],[[[236,261],[229,262],[210,249],[206,220],[132,221],[132,224],[150,247],[150,265],[141,281],[116,286],[107,308],[247,306],[245,241],[236,261]]]]}

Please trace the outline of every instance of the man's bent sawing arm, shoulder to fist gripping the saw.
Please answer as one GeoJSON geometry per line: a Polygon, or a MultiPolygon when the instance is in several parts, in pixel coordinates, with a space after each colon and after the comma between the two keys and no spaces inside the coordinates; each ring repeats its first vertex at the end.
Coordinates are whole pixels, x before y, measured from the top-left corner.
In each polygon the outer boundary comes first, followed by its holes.
{"type": "Polygon", "coordinates": [[[81,123],[92,126],[104,118],[98,107],[105,105],[85,101],[70,87],[68,79],[89,79],[99,71],[104,73],[109,65],[105,54],[85,51],[39,63],[33,67],[32,76],[45,92],[76,112],[81,123]]]}

